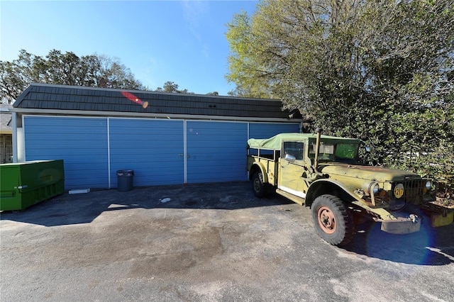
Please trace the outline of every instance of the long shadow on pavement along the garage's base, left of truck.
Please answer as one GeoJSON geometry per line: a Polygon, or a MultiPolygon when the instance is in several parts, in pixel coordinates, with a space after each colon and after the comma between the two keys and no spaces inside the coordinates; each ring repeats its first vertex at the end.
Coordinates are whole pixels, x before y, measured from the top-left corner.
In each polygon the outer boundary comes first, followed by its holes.
{"type": "Polygon", "coordinates": [[[236,210],[289,203],[285,198],[255,198],[249,182],[138,187],[87,194],[62,194],[23,211],[4,211],[0,220],[56,226],[91,223],[104,211],[128,208],[195,208],[236,210]]]}

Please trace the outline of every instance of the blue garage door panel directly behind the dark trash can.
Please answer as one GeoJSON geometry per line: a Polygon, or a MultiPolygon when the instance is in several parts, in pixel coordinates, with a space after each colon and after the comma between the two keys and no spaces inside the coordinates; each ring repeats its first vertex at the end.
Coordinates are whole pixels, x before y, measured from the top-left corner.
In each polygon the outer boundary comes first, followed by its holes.
{"type": "Polygon", "coordinates": [[[184,122],[109,118],[111,187],[133,169],[134,186],[184,183],[184,122]]]}

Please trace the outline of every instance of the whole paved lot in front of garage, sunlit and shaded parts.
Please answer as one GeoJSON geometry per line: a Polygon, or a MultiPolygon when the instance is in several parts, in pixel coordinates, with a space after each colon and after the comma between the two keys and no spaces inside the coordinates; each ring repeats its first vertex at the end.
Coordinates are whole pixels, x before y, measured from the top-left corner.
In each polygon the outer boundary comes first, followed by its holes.
{"type": "Polygon", "coordinates": [[[244,182],[64,194],[1,213],[0,301],[453,301],[454,225],[361,225],[340,248],[310,211],[244,182]]]}

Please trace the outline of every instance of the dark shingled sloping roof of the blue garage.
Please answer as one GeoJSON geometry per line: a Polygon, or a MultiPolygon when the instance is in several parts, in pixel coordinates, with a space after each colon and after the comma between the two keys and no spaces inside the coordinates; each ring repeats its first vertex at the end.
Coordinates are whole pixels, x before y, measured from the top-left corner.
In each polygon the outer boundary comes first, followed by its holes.
{"type": "Polygon", "coordinates": [[[230,96],[176,94],[155,91],[128,91],[148,107],[135,104],[121,89],[101,89],[32,83],[23,91],[14,108],[58,109],[64,111],[114,111],[164,113],[196,116],[238,116],[255,118],[288,118],[282,102],[272,99],[243,99],[230,96]]]}

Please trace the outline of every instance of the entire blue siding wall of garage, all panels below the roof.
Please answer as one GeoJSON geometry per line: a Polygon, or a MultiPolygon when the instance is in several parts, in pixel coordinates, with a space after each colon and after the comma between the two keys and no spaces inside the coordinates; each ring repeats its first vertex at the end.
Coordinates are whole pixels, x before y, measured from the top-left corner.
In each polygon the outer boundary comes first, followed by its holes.
{"type": "Polygon", "coordinates": [[[134,186],[243,181],[248,138],[284,132],[299,123],[24,117],[26,160],[65,160],[65,189],[116,188],[120,169],[134,186]]]}

